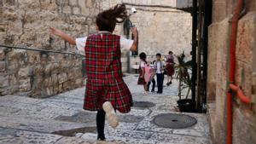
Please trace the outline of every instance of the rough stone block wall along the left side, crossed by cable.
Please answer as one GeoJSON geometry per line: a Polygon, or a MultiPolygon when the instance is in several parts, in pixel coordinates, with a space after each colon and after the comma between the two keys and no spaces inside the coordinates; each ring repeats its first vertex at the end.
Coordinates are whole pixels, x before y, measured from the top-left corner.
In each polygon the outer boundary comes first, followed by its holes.
{"type": "MultiPolygon", "coordinates": [[[[96,32],[95,0],[1,0],[0,43],[35,49],[75,51],[58,37],[50,40],[49,26],[73,37],[96,32]],[[49,43],[51,42],[51,43],[49,43]]],[[[82,85],[82,59],[74,55],[0,48],[0,95],[55,95],[82,85]]]]}

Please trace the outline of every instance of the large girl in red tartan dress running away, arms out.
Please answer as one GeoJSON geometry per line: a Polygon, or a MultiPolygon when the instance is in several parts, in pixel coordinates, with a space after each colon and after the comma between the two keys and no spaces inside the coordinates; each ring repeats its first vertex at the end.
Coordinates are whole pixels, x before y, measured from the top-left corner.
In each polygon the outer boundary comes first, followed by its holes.
{"type": "Polygon", "coordinates": [[[97,14],[96,34],[76,39],[51,28],[52,34],[76,44],[77,49],[85,52],[87,82],[84,110],[97,111],[96,126],[100,141],[105,141],[105,116],[108,124],[114,128],[119,124],[115,110],[123,113],[131,111],[131,92],[122,78],[120,59],[121,50],[137,50],[138,32],[137,28],[132,28],[134,40],[113,34],[116,24],[123,22],[126,17],[125,5],[116,5],[97,14]]]}

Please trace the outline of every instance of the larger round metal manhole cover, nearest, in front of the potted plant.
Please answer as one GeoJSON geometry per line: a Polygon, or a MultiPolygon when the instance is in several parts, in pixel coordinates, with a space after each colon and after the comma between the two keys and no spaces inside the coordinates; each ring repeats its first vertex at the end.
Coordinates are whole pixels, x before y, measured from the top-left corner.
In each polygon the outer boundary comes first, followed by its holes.
{"type": "Polygon", "coordinates": [[[165,113],[154,117],[157,126],[170,129],[183,129],[196,124],[196,119],[185,114],[165,113]]]}

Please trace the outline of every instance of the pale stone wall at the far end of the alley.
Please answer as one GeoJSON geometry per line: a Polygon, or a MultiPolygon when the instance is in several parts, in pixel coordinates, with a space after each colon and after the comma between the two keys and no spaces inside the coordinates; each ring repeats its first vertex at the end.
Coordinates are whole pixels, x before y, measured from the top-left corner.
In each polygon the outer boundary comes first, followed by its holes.
{"type": "MultiPolygon", "coordinates": [[[[148,61],[153,61],[155,55],[168,55],[170,50],[175,55],[185,53],[188,59],[191,51],[192,16],[176,8],[189,7],[191,0],[108,0],[102,1],[102,9],[108,9],[116,3],[127,3],[128,12],[131,7],[137,9],[137,14],[131,15],[131,21],[139,30],[138,52],[145,52],[148,61]]],[[[123,26],[117,26],[115,33],[122,35],[123,26]]],[[[126,55],[124,54],[124,57],[126,55]]],[[[133,66],[140,60],[138,56],[131,56],[127,63],[123,63],[123,70],[133,66]]]]}

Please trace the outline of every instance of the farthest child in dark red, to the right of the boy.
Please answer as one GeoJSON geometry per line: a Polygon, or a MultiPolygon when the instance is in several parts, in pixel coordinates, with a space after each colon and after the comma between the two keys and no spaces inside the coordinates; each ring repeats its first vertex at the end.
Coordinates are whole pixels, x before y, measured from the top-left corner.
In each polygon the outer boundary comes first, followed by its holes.
{"type": "Polygon", "coordinates": [[[167,86],[172,84],[172,75],[174,74],[174,56],[172,51],[169,51],[169,55],[166,57],[166,75],[167,86]]]}

